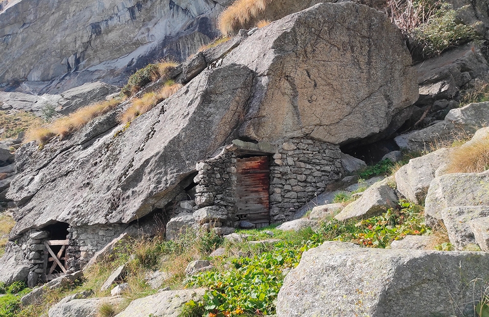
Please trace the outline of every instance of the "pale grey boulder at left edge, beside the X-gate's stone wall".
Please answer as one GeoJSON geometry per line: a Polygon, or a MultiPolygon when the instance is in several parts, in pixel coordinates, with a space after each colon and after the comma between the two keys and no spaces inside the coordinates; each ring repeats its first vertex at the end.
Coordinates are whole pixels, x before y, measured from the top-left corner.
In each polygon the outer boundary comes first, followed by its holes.
{"type": "Polygon", "coordinates": [[[29,262],[24,259],[21,247],[8,242],[5,254],[0,258],[0,282],[27,281],[29,271],[29,262]]]}

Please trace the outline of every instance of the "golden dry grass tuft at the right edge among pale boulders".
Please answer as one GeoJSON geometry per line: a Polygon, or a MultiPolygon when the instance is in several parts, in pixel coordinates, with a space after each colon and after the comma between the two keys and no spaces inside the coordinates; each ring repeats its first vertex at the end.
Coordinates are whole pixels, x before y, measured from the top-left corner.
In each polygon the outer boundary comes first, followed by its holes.
{"type": "Polygon", "coordinates": [[[489,139],[454,148],[448,157],[447,173],[480,173],[488,169],[489,139]]]}

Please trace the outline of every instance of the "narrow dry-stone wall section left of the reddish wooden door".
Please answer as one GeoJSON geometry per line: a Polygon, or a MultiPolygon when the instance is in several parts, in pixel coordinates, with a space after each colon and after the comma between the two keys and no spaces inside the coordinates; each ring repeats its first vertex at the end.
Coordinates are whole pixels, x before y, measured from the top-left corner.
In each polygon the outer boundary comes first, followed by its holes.
{"type": "Polygon", "coordinates": [[[224,207],[230,214],[236,213],[236,153],[228,148],[205,161],[197,163],[196,206],[198,210],[207,206],[224,207]]]}

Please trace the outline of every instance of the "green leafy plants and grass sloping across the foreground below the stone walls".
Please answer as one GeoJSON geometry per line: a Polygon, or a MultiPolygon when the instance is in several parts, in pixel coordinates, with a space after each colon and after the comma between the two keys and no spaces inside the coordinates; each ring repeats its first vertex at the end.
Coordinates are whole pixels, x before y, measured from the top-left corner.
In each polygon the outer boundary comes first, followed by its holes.
{"type": "MultiPolygon", "coordinates": [[[[385,248],[407,234],[429,234],[423,224],[422,207],[401,201],[398,208],[389,209],[382,215],[358,221],[332,219],[320,225],[316,231],[284,232],[274,226],[238,231],[247,235],[243,241],[229,241],[213,232],[183,232],[175,241],[166,241],[160,235],[152,239],[134,240],[115,250],[107,261],[95,264],[85,272],[84,283],[48,293],[42,304],[18,306],[20,297],[9,296],[1,309],[10,309],[14,315],[0,317],[37,317],[47,311],[64,296],[87,289],[100,290],[101,285],[114,268],[126,264],[128,272],[124,282],[130,292],[121,307],[103,307],[100,316],[113,316],[116,311],[135,298],[156,293],[145,280],[145,273],[162,270],[172,275],[160,287],[172,289],[205,287],[208,291],[199,302],[185,304],[180,317],[200,316],[263,316],[275,313],[275,300],[290,269],[295,268],[306,250],[324,241],[348,241],[363,247],[385,248]],[[248,241],[279,239],[275,243],[248,243],[248,241]],[[224,255],[209,257],[217,248],[224,248],[224,255]],[[208,259],[214,269],[185,274],[187,264],[195,259],[208,259]],[[103,310],[103,312],[102,312],[103,310]]],[[[14,287],[5,288],[14,290],[14,287]]],[[[23,291],[21,291],[23,292],[23,291]]],[[[108,296],[109,291],[95,292],[93,296],[108,296]]]]}

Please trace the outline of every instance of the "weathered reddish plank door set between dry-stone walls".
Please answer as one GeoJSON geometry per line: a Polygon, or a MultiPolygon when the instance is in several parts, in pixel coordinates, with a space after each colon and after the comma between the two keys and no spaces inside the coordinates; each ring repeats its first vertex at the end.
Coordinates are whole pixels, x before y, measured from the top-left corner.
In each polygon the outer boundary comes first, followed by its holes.
{"type": "Polygon", "coordinates": [[[257,228],[270,224],[268,209],[268,157],[238,159],[236,163],[236,215],[257,228]]]}

